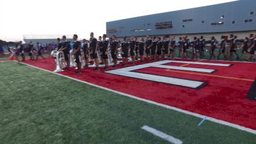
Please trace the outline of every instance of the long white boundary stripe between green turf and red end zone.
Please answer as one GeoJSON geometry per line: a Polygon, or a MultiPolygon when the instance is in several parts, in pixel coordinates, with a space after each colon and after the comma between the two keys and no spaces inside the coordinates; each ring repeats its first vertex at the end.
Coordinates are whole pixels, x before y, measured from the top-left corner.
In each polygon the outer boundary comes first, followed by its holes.
{"type": "MultiPolygon", "coordinates": [[[[20,62],[20,63],[22,63],[22,62],[20,62]]],[[[109,92],[118,93],[118,94],[120,94],[120,95],[124,95],[125,97],[130,97],[130,98],[132,98],[132,99],[141,100],[141,101],[143,101],[143,102],[147,102],[147,103],[149,103],[149,104],[154,104],[154,105],[156,105],[156,106],[161,106],[161,107],[166,108],[166,109],[172,109],[173,111],[178,111],[178,112],[180,112],[180,113],[185,113],[185,114],[187,114],[187,115],[196,116],[196,117],[198,117],[198,118],[205,118],[205,117],[206,117],[206,115],[200,115],[200,114],[198,114],[198,113],[193,113],[193,112],[186,111],[186,110],[183,110],[183,109],[175,108],[175,107],[173,107],[173,106],[168,106],[168,105],[165,105],[165,104],[161,104],[161,103],[158,103],[158,102],[154,102],[154,101],[152,101],[152,100],[147,100],[147,99],[142,99],[142,98],[140,98],[140,97],[135,97],[134,95],[129,95],[129,94],[127,94],[127,93],[122,93],[122,92],[118,92],[118,91],[115,91],[115,90],[111,90],[110,88],[105,88],[105,87],[103,87],[103,86],[98,86],[98,85],[93,84],[93,83],[88,83],[88,82],[86,82],[86,81],[81,81],[81,80],[79,80],[79,79],[74,79],[73,77],[64,76],[64,75],[62,75],[62,74],[58,74],[58,73],[52,72],[52,71],[50,71],[50,70],[45,70],[45,69],[43,69],[43,68],[35,67],[35,66],[29,65],[29,64],[27,64],[27,63],[22,63],[22,64],[28,65],[28,66],[30,66],[30,67],[38,68],[38,69],[40,69],[40,70],[44,70],[45,72],[51,72],[52,74],[56,74],[56,75],[58,75],[58,76],[67,77],[68,79],[73,79],[74,81],[79,81],[79,82],[81,82],[81,83],[89,84],[89,85],[95,86],[95,87],[97,87],[97,88],[102,88],[103,90],[108,90],[109,92]]],[[[226,121],[224,121],[224,120],[218,120],[218,119],[212,118],[212,117],[210,117],[210,116],[207,116],[207,120],[208,120],[208,121],[211,121],[211,122],[215,122],[215,123],[217,123],[217,124],[227,125],[228,127],[233,127],[233,128],[239,129],[239,130],[241,130],[241,131],[246,131],[246,132],[250,132],[250,133],[252,133],[252,134],[256,134],[256,130],[254,130],[254,129],[250,129],[250,128],[248,128],[248,127],[243,127],[243,126],[237,125],[237,124],[232,124],[232,123],[226,122],[226,121]]]]}

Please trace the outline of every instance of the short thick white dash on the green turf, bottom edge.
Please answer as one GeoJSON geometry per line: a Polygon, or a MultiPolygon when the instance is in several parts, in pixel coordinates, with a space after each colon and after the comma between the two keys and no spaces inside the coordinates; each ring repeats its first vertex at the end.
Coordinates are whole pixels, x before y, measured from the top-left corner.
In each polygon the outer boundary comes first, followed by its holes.
{"type": "Polygon", "coordinates": [[[164,132],[158,131],[157,129],[154,129],[152,127],[148,127],[147,125],[144,125],[143,127],[141,127],[141,129],[144,129],[145,131],[150,132],[160,138],[163,138],[164,140],[169,141],[173,144],[182,144],[183,143],[181,140],[174,138],[173,136],[170,136],[164,132]]]}

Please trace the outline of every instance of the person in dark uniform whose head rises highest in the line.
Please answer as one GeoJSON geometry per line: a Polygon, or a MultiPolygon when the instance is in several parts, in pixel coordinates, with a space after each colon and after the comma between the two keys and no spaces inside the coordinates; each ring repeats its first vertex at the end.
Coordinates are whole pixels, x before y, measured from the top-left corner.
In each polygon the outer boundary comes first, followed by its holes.
{"type": "Polygon", "coordinates": [[[99,55],[98,55],[98,44],[97,39],[93,37],[93,32],[90,33],[91,36],[91,43],[90,43],[90,49],[92,49],[92,58],[95,62],[96,67],[94,70],[100,70],[99,68],[99,55]]]}

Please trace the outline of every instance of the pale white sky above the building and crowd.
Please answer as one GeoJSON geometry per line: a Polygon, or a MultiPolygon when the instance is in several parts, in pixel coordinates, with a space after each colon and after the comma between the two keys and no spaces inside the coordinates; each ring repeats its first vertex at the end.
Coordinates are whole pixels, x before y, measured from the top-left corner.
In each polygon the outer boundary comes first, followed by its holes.
{"type": "Polygon", "coordinates": [[[106,33],[106,22],[234,0],[0,0],[0,40],[23,35],[106,33]]]}

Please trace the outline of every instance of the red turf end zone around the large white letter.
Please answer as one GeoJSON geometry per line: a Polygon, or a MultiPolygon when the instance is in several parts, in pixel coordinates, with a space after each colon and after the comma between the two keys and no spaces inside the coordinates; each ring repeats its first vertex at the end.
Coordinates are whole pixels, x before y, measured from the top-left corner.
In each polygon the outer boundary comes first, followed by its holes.
{"type": "MultiPolygon", "coordinates": [[[[180,61],[180,60],[177,60],[180,61]]],[[[185,60],[196,61],[196,60],[185,60]]],[[[157,83],[132,77],[107,74],[104,71],[95,71],[93,68],[83,69],[83,74],[76,75],[74,68],[60,72],[65,76],[73,77],[88,83],[97,84],[118,92],[127,93],[143,99],[152,100],[175,108],[184,109],[200,115],[211,116],[233,124],[242,125],[256,130],[256,101],[246,99],[248,92],[255,81],[256,64],[231,61],[200,61],[204,63],[231,64],[230,67],[211,65],[195,65],[186,63],[166,63],[179,67],[209,68],[216,70],[213,73],[191,72],[167,68],[147,67],[134,72],[153,74],[164,77],[177,77],[207,83],[202,88],[186,88],[182,86],[157,83]]],[[[55,70],[54,60],[47,59],[26,61],[29,65],[55,70]]],[[[118,66],[122,68],[122,66],[118,66]]],[[[109,68],[113,70],[113,68],[109,68]]],[[[256,94],[256,93],[255,93],[256,94]]]]}

